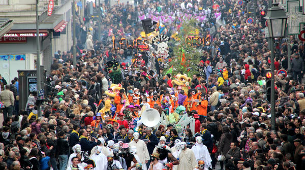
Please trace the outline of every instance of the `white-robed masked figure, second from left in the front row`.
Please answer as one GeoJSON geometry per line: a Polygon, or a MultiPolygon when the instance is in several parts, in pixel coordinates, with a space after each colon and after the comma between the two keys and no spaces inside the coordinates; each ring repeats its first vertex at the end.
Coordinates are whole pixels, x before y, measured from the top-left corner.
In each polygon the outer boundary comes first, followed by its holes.
{"type": "Polygon", "coordinates": [[[106,170],[107,169],[107,157],[101,152],[102,147],[96,146],[95,154],[90,156],[90,159],[94,160],[96,167],[95,170],[106,170]]]}

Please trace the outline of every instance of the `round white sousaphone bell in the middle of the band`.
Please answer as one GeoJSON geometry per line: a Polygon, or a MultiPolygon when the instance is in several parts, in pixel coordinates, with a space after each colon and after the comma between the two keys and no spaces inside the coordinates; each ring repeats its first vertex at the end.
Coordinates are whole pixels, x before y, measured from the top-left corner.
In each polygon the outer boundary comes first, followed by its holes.
{"type": "Polygon", "coordinates": [[[160,122],[160,114],[156,109],[146,109],[141,116],[143,124],[147,127],[154,127],[160,122]]]}

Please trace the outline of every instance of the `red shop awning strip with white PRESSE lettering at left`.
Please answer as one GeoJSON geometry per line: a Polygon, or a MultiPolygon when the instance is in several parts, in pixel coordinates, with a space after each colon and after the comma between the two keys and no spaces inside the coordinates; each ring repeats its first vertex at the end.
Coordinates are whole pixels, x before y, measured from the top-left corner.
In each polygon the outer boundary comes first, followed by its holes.
{"type": "MultiPolygon", "coordinates": [[[[39,37],[48,35],[47,29],[39,29],[39,37]]],[[[4,37],[36,37],[36,29],[10,30],[4,37]]]]}

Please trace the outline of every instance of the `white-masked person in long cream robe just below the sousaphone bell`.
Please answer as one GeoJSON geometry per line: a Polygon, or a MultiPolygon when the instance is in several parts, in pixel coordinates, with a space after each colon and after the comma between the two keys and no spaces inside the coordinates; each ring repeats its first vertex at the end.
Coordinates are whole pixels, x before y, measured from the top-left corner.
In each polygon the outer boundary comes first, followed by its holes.
{"type": "Polygon", "coordinates": [[[139,139],[140,134],[138,132],[135,132],[133,134],[133,137],[134,137],[134,140],[129,143],[129,146],[130,147],[132,147],[132,146],[136,147],[137,154],[140,158],[139,163],[142,163],[142,169],[143,170],[147,170],[146,163],[149,160],[149,153],[148,153],[146,144],[145,144],[144,141],[139,139]]]}

